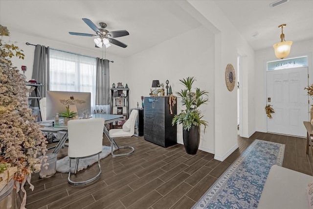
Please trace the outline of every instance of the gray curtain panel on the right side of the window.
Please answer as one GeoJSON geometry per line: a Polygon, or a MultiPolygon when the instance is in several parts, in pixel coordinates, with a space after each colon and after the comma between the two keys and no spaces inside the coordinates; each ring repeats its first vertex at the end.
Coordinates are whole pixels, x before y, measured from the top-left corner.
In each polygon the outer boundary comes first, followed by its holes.
{"type": "Polygon", "coordinates": [[[110,67],[109,60],[97,57],[96,105],[110,104],[110,67]]]}

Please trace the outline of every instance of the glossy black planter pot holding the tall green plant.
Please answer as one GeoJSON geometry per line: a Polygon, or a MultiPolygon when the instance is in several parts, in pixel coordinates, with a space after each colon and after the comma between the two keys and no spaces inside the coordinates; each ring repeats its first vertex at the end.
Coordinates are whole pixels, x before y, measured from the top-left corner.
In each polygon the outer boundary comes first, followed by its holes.
{"type": "Polygon", "coordinates": [[[195,155],[199,148],[200,133],[199,126],[191,126],[190,130],[182,130],[185,150],[190,155],[195,155]]]}

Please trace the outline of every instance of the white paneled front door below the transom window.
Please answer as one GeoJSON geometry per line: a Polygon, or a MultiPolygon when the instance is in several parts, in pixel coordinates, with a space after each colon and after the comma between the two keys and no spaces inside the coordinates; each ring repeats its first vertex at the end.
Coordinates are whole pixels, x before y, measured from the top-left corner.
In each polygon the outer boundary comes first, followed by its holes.
{"type": "Polygon", "coordinates": [[[306,137],[303,121],[309,121],[308,68],[267,71],[267,104],[272,105],[268,132],[306,137]]]}

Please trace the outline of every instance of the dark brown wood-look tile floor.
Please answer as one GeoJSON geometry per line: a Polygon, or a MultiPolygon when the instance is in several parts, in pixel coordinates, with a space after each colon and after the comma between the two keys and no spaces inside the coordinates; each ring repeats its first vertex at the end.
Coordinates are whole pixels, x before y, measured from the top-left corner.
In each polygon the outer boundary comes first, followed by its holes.
{"type": "MultiPolygon", "coordinates": [[[[190,209],[254,139],[286,144],[283,166],[312,175],[313,155],[305,152],[305,139],[270,133],[254,133],[249,139],[238,137],[239,148],[224,162],[198,151],[185,153],[177,144],[163,148],[143,139],[118,139],[119,145],[134,146],[132,155],[101,160],[102,174],[86,186],[71,186],[67,173],[57,172],[47,179],[32,175],[35,189],[27,189],[27,209],[190,209]]],[[[104,145],[108,144],[104,139],[104,145]]],[[[116,151],[118,152],[118,151],[116,151]]],[[[58,158],[67,155],[62,149],[58,158]]],[[[96,165],[97,163],[95,163],[96,165]]],[[[97,172],[97,166],[79,172],[81,181],[97,172]]]]}

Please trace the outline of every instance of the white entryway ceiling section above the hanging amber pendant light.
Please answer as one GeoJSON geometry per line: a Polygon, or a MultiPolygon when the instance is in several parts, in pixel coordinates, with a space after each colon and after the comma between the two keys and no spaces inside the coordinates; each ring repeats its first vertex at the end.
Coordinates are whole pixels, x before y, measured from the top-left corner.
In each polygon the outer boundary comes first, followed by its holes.
{"type": "Polygon", "coordinates": [[[313,39],[313,0],[290,0],[279,6],[277,0],[215,0],[231,23],[254,50],[271,47],[280,42],[284,27],[286,41],[313,39]],[[259,33],[258,38],[252,37],[259,33]]]}

